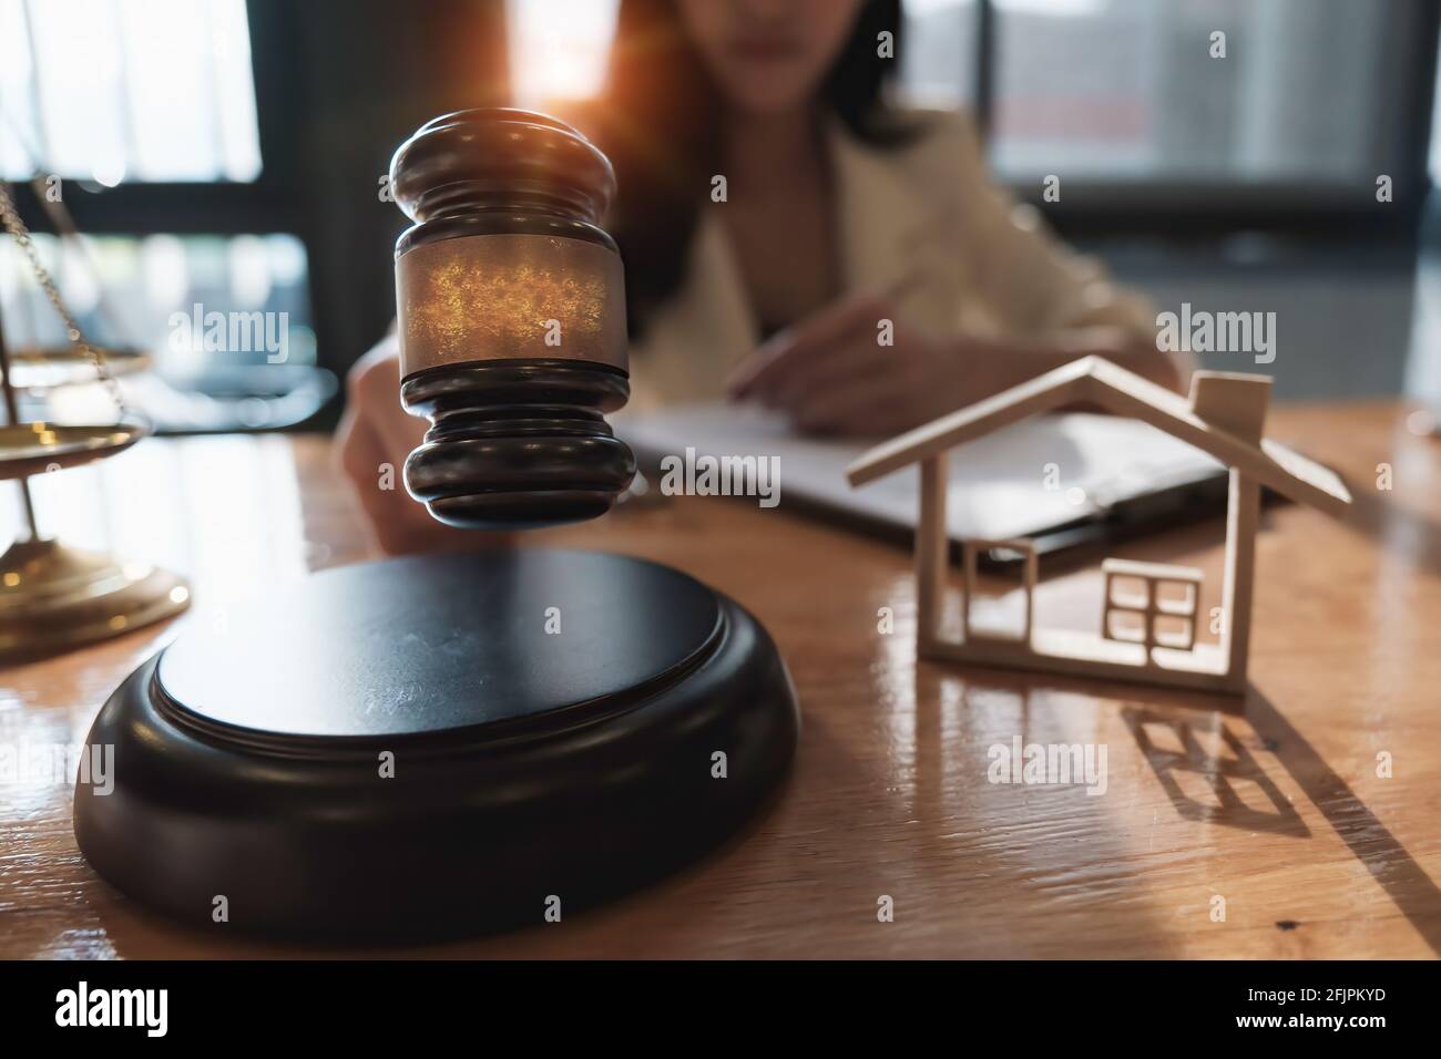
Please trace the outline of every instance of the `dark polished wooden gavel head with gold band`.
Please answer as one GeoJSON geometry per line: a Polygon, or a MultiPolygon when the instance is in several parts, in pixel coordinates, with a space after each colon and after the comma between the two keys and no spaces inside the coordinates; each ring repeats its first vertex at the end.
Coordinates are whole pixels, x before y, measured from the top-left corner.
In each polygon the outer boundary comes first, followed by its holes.
{"type": "Polygon", "coordinates": [[[401,401],[431,421],[405,486],[451,526],[602,514],[635,474],[604,414],[630,398],[625,297],[599,228],[610,160],[520,110],[435,118],[391,160],[401,401]]]}

